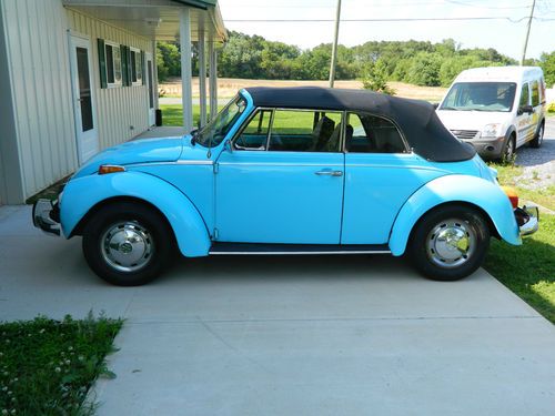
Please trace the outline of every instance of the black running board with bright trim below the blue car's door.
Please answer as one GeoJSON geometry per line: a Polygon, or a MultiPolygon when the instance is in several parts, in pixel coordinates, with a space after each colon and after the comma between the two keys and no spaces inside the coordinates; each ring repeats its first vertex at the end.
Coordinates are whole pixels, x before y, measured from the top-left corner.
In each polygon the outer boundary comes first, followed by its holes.
{"type": "Polygon", "coordinates": [[[386,244],[258,244],[213,243],[211,255],[295,255],[295,254],[390,254],[386,244]]]}

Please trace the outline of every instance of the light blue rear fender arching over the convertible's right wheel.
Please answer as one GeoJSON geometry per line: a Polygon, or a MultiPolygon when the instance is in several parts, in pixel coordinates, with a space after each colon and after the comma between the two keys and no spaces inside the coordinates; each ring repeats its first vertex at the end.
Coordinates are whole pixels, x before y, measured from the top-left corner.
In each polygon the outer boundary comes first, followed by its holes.
{"type": "Polygon", "coordinates": [[[477,176],[455,174],[430,181],[408,197],[391,230],[391,253],[402,255],[414,224],[426,212],[447,202],[465,202],[481,207],[504,241],[513,245],[522,244],[513,207],[503,190],[477,176]]]}

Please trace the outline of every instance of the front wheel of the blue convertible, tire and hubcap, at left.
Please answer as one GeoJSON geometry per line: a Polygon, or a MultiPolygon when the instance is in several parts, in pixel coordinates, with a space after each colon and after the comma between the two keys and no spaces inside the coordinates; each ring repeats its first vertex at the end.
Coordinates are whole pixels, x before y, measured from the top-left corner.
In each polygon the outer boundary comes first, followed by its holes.
{"type": "Polygon", "coordinates": [[[83,230],[83,254],[100,277],[119,286],[155,278],[173,255],[173,233],[145,205],[118,202],[102,207],[83,230]]]}

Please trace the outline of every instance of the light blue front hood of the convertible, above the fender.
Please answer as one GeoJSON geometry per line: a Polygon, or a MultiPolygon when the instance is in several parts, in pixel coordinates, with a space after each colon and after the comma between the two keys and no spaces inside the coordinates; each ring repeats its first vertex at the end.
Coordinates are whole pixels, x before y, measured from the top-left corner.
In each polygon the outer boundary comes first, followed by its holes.
{"type": "Polygon", "coordinates": [[[105,149],[91,158],[73,177],[90,175],[102,164],[173,162],[183,151],[183,138],[143,139],[105,149]]]}

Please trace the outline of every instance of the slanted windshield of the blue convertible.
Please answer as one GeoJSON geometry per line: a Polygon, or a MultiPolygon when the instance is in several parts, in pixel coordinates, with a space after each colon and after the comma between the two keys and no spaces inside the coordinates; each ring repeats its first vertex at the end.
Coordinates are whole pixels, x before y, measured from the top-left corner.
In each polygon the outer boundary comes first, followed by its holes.
{"type": "Polygon", "coordinates": [[[246,102],[244,98],[236,95],[218,113],[214,120],[193,133],[195,142],[204,148],[220,144],[245,108],[246,102]]]}

